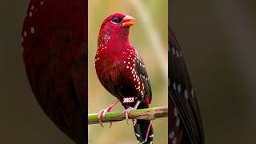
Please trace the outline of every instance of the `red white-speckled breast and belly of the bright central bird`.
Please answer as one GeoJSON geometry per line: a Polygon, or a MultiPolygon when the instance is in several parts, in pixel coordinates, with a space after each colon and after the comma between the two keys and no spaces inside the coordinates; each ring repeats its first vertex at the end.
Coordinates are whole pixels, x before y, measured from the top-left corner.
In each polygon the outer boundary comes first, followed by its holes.
{"type": "MultiPolygon", "coordinates": [[[[123,98],[138,98],[144,90],[143,83],[135,70],[134,49],[122,51],[98,49],[95,68],[99,81],[111,94],[123,98]]],[[[135,100],[135,99],[134,99],[135,100]]]]}

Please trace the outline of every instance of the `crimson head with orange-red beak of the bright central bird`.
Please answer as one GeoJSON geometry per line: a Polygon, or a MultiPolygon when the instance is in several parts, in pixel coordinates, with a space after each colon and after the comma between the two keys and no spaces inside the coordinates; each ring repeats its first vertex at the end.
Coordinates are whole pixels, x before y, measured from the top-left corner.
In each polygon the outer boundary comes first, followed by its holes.
{"type": "Polygon", "coordinates": [[[110,38],[127,38],[129,35],[130,26],[134,25],[133,17],[126,14],[116,13],[111,14],[107,17],[101,26],[101,30],[99,32],[99,39],[103,38],[103,40],[107,40],[110,38]]]}

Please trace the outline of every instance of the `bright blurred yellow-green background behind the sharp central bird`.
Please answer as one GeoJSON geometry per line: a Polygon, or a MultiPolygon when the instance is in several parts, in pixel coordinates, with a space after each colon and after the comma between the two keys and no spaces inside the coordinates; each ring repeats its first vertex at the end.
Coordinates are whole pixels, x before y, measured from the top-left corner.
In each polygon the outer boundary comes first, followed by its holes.
{"type": "MultiPolygon", "coordinates": [[[[88,113],[98,113],[105,109],[116,98],[105,90],[99,82],[94,68],[94,56],[97,51],[98,32],[102,22],[110,14],[123,13],[136,18],[134,26],[130,27],[130,42],[138,50],[146,64],[152,87],[152,104],[167,106],[167,30],[168,30],[168,1],[155,0],[90,0],[89,1],[89,54],[88,54],[88,113]]],[[[123,111],[121,103],[114,106],[112,111],[123,111]]],[[[130,144],[137,143],[131,120],[89,126],[90,144],[130,144]]],[[[167,118],[158,118],[153,122],[154,143],[167,143],[167,118]]]]}

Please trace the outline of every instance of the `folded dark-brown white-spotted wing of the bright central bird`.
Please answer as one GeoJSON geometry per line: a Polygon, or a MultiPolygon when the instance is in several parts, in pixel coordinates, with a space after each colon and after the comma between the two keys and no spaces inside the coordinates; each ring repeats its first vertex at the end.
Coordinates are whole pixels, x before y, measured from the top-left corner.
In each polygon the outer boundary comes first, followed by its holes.
{"type": "Polygon", "coordinates": [[[136,73],[139,75],[141,81],[143,82],[143,84],[145,86],[146,94],[151,102],[152,92],[151,92],[151,86],[150,86],[150,78],[148,77],[148,75],[146,73],[146,66],[137,51],[136,51],[135,57],[136,57],[136,59],[135,59],[136,73]]]}

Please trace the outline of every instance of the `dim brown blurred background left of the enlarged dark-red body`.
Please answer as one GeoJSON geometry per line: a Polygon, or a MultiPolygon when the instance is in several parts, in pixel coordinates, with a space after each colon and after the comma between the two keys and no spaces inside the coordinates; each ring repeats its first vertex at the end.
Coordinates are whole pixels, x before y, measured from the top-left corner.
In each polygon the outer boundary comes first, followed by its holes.
{"type": "Polygon", "coordinates": [[[29,2],[0,2],[0,143],[74,144],[43,113],[26,77],[21,33],[29,2]]]}

